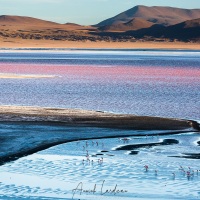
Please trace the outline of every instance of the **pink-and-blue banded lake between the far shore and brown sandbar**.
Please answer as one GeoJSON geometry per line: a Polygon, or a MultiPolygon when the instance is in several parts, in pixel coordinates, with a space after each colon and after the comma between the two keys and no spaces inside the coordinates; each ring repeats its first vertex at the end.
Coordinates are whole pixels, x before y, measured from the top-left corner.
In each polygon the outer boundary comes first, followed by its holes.
{"type": "Polygon", "coordinates": [[[200,119],[198,51],[0,51],[1,105],[200,119]]]}

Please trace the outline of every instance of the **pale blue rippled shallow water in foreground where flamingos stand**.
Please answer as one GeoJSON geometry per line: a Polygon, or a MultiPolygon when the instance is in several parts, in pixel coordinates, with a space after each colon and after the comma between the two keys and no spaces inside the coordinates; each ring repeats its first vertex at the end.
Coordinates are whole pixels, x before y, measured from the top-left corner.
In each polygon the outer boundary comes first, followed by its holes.
{"type": "Polygon", "coordinates": [[[5,164],[0,168],[0,196],[103,200],[200,198],[199,160],[169,157],[198,151],[198,134],[128,139],[128,142],[120,138],[70,142],[5,164]],[[115,151],[119,146],[164,139],[176,139],[179,143],[140,148],[136,155],[115,151]],[[147,171],[145,165],[149,167],[147,171]],[[187,171],[193,175],[187,176],[187,171]],[[95,184],[94,193],[77,191],[81,187],[93,190],[95,184]],[[115,189],[116,184],[123,192],[106,193],[115,189]]]}

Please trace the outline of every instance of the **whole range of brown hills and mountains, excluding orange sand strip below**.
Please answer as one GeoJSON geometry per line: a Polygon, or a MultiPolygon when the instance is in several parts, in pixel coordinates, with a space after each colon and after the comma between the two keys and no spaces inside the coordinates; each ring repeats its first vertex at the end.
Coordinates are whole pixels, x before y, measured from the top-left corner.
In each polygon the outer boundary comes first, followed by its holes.
{"type": "Polygon", "coordinates": [[[177,39],[200,42],[200,9],[136,6],[100,24],[100,27],[81,26],[74,23],[59,24],[32,17],[2,15],[0,16],[0,37],[123,42],[138,39],[144,41],[177,39]],[[196,19],[182,22],[185,18],[196,16],[198,16],[196,19]],[[176,21],[181,22],[174,25],[176,21]],[[169,25],[171,23],[173,25],[169,25]]]}

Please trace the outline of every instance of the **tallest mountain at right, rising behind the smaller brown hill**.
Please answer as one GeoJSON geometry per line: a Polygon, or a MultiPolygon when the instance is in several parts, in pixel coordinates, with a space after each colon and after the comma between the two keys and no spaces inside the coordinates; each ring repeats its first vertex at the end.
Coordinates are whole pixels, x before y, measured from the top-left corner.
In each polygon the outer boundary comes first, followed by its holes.
{"type": "Polygon", "coordinates": [[[181,9],[159,6],[135,6],[112,18],[106,19],[98,23],[96,26],[102,27],[110,26],[117,23],[127,23],[133,18],[141,18],[152,23],[170,26],[186,20],[200,18],[200,9],[181,9]]]}

